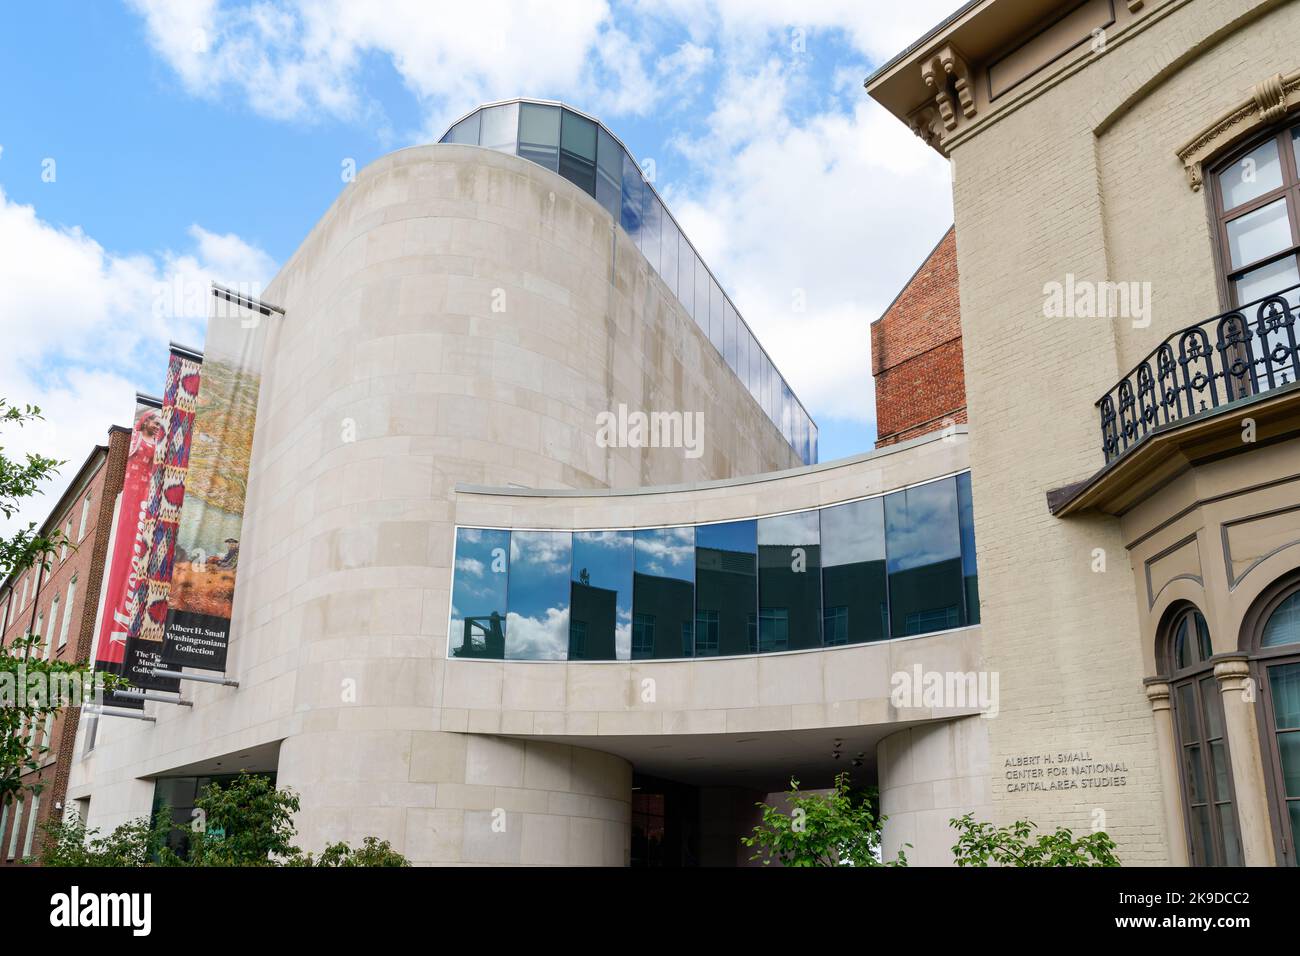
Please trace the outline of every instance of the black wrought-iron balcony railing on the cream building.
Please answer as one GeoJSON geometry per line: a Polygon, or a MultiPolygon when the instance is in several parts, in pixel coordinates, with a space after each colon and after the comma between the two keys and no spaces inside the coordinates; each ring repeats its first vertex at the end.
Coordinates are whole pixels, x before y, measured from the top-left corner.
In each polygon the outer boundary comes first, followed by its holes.
{"type": "Polygon", "coordinates": [[[1295,302],[1282,289],[1175,332],[1097,402],[1106,464],[1162,425],[1300,381],[1295,302]]]}

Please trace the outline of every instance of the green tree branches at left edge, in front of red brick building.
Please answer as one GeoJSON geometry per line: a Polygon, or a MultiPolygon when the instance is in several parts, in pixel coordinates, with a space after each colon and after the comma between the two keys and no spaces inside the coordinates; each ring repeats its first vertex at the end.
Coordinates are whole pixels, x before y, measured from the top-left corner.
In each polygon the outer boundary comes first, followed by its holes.
{"type": "MultiPolygon", "coordinates": [[[[40,408],[14,406],[0,398],[0,427],[18,427],[39,420],[40,408]]],[[[0,515],[13,519],[25,499],[39,493],[40,484],[58,472],[62,462],[44,455],[26,455],[23,462],[4,454],[0,446],[0,515]]],[[[35,522],[0,538],[0,580],[12,579],[32,567],[49,570],[61,548],[75,550],[61,531],[44,535],[35,522]]],[[[68,705],[79,705],[82,684],[90,680],[84,662],[44,661],[34,653],[43,636],[32,633],[0,649],[0,806],[9,806],[27,795],[39,795],[42,784],[31,771],[40,769],[46,741],[35,744],[36,728],[68,705]],[[29,775],[30,774],[30,775],[29,775]],[[27,779],[25,779],[27,777],[27,779]]],[[[117,678],[101,687],[124,685],[117,678]]]]}

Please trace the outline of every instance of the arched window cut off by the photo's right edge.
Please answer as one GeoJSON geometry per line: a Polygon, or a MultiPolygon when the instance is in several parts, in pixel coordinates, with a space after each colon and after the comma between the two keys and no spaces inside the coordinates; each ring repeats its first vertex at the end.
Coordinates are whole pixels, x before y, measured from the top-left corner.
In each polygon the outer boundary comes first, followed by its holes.
{"type": "Polygon", "coordinates": [[[1247,618],[1260,683],[1269,803],[1280,858],[1296,865],[1300,839],[1300,578],[1266,591],[1247,618]]]}

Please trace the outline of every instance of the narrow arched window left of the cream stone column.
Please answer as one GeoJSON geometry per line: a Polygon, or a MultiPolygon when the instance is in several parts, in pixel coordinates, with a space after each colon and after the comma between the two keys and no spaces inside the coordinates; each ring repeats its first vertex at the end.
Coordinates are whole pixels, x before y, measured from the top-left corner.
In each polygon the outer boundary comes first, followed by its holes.
{"type": "Polygon", "coordinates": [[[1210,663],[1210,630],[1190,604],[1166,619],[1165,666],[1178,731],[1178,766],[1192,866],[1240,866],[1223,697],[1210,663]]]}

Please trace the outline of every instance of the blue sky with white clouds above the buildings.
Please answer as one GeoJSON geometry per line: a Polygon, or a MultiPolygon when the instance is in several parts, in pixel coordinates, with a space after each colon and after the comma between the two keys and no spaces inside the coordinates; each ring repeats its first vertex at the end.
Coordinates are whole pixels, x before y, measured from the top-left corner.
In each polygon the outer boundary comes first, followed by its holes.
{"type": "MultiPolygon", "coordinates": [[[[562,99],[642,161],[820,427],[871,447],[870,321],[950,222],[946,164],[862,88],[954,0],[129,0],[0,31],[0,395],[64,479],[202,346],[208,280],[265,284],[346,161],[481,101],[562,99]],[[905,8],[905,9],[900,9],[905,8]],[[792,303],[805,300],[806,310],[792,303]]],[[[25,519],[39,519],[61,481],[25,519]]]]}

